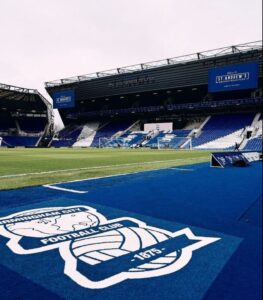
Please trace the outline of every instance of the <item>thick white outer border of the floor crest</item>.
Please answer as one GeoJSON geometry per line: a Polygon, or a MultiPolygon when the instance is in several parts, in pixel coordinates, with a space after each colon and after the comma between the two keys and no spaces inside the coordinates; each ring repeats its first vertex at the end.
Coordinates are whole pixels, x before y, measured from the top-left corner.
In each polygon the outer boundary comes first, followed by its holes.
{"type": "MultiPolygon", "coordinates": [[[[131,272],[129,269],[120,272],[117,274],[114,274],[113,276],[107,277],[105,279],[99,280],[99,281],[93,281],[89,279],[87,276],[79,272],[77,269],[77,264],[78,264],[78,258],[74,256],[74,254],[71,252],[70,244],[72,241],[80,241],[80,240],[85,240],[83,239],[75,239],[75,240],[67,240],[67,241],[62,241],[62,242],[57,242],[54,244],[50,245],[43,245],[42,247],[37,247],[37,248],[32,248],[32,249],[25,249],[23,246],[20,244],[21,239],[23,236],[15,234],[11,231],[9,231],[5,225],[1,225],[0,223],[0,235],[6,237],[9,239],[7,242],[8,248],[14,252],[15,254],[19,255],[26,255],[26,254],[35,254],[35,253],[41,253],[41,252],[46,252],[54,249],[58,249],[60,256],[65,262],[64,266],[64,274],[70,277],[73,281],[75,281],[78,285],[84,287],[84,288],[89,288],[89,289],[102,289],[102,288],[107,288],[109,286],[115,285],[117,283],[120,283],[122,281],[128,280],[128,279],[142,279],[142,278],[151,278],[151,277],[158,277],[158,276],[163,276],[163,275],[168,275],[171,273],[174,273],[180,269],[182,269],[184,266],[186,266],[189,261],[192,258],[192,252],[202,248],[204,246],[207,246],[208,244],[214,243],[220,238],[217,237],[204,237],[204,236],[196,236],[194,233],[191,231],[189,227],[183,228],[181,230],[175,231],[175,232],[170,232],[168,230],[160,229],[157,227],[152,227],[148,226],[145,222],[142,222],[138,219],[135,218],[130,218],[130,217],[121,217],[121,218],[116,218],[116,219],[111,219],[107,220],[105,216],[102,214],[98,213],[96,209],[86,206],[86,205],[75,205],[75,206],[65,206],[65,207],[50,207],[50,208],[40,208],[40,209],[33,209],[33,210],[27,210],[19,213],[14,213],[11,214],[7,217],[0,218],[0,222],[3,222],[7,219],[10,218],[16,218],[18,216],[25,216],[27,214],[39,211],[39,210],[45,210],[45,209],[50,209],[51,211],[56,211],[56,210],[61,210],[61,209],[76,209],[76,208],[83,208],[86,209],[87,212],[92,213],[98,217],[100,223],[99,225],[107,225],[109,223],[118,223],[118,222],[132,222],[134,224],[137,224],[140,229],[145,229],[147,231],[156,231],[158,230],[159,233],[164,234],[168,236],[168,239],[173,239],[180,237],[182,235],[185,235],[187,239],[191,241],[196,241],[195,243],[192,243],[189,246],[186,246],[181,249],[180,257],[178,259],[175,259],[174,262],[167,264],[167,266],[162,267],[162,268],[157,268],[157,269],[150,269],[150,270],[145,270],[141,272],[131,272]]],[[[92,228],[92,227],[90,227],[92,228]]],[[[125,227],[124,227],[125,228],[125,227]]],[[[99,235],[99,234],[98,234],[99,235]]],[[[158,245],[158,243],[154,244],[153,246],[158,245]]],[[[141,248],[140,251],[142,251],[143,248],[141,248]]],[[[134,251],[136,253],[136,251],[134,251]]],[[[165,255],[161,258],[167,257],[169,255],[165,255]]],[[[117,259],[117,258],[115,258],[117,259]]],[[[158,258],[152,258],[150,260],[150,263],[158,260],[158,258]]],[[[143,263],[138,264],[140,267],[143,265],[143,263]]]]}

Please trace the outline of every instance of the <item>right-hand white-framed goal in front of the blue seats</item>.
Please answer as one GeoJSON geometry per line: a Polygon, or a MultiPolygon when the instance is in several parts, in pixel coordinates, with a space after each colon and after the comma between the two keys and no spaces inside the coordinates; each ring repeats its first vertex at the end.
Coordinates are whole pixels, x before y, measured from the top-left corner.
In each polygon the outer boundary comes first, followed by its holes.
{"type": "MultiPolygon", "coordinates": [[[[154,145],[153,145],[154,146],[154,145]]],[[[161,137],[157,139],[157,145],[155,148],[162,149],[174,149],[174,150],[192,150],[192,138],[191,137],[161,137]]]]}

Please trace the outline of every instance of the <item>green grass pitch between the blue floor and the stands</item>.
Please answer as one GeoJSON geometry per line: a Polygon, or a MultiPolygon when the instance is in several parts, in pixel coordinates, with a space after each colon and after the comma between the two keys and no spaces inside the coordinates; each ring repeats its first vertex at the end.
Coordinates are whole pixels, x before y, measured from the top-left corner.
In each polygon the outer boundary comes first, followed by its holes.
{"type": "Polygon", "coordinates": [[[0,189],[206,162],[210,151],[0,148],[0,189]]]}

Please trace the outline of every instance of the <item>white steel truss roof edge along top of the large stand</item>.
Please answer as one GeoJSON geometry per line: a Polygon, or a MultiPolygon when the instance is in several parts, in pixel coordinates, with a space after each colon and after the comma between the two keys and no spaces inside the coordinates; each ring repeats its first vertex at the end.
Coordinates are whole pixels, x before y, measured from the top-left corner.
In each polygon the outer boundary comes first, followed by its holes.
{"type": "Polygon", "coordinates": [[[117,69],[111,69],[111,70],[106,70],[106,71],[101,71],[101,72],[96,72],[91,74],[63,78],[59,80],[46,82],[45,86],[47,88],[56,87],[64,84],[94,80],[101,77],[109,77],[109,76],[114,76],[119,74],[133,73],[133,72],[138,72],[138,71],[143,71],[143,70],[148,70],[148,69],[153,69],[158,67],[182,64],[191,61],[204,60],[208,58],[220,57],[229,54],[245,53],[245,52],[261,50],[261,49],[262,49],[262,40],[213,49],[213,50],[207,50],[203,52],[197,52],[197,53],[173,57],[173,58],[167,58],[167,59],[153,61],[153,62],[141,63],[137,65],[131,65],[131,66],[126,66],[126,67],[121,67],[117,69]]]}

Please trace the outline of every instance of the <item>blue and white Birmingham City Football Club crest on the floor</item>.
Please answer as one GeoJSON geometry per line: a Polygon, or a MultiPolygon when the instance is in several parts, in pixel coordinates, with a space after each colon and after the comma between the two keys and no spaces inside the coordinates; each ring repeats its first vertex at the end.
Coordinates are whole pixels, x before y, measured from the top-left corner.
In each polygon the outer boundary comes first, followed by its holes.
{"type": "Polygon", "coordinates": [[[194,250],[220,239],[196,236],[190,228],[170,232],[129,217],[108,220],[83,205],[6,216],[0,219],[0,235],[16,254],[58,249],[64,273],[90,289],[174,273],[194,250]]]}

